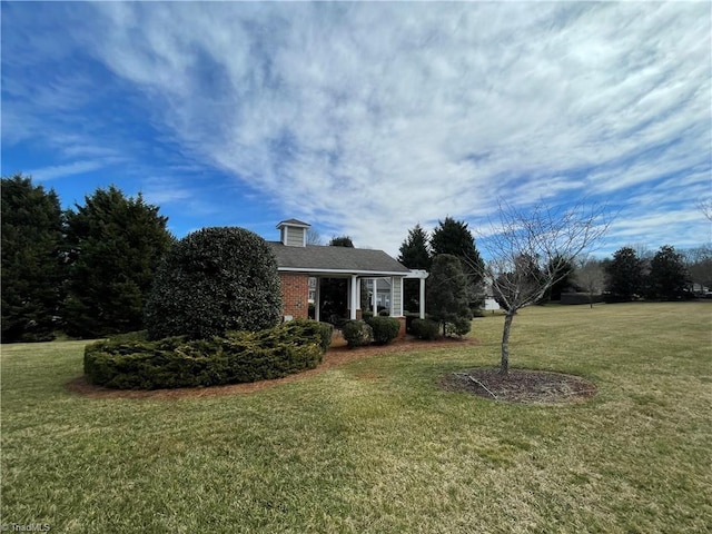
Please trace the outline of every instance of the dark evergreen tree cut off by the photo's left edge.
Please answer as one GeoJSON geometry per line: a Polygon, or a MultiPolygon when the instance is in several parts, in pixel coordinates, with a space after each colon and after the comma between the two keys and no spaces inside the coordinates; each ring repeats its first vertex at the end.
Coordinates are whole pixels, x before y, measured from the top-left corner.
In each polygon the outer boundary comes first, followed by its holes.
{"type": "Polygon", "coordinates": [[[59,198],[22,175],[1,190],[2,342],[49,340],[63,279],[59,198]]]}

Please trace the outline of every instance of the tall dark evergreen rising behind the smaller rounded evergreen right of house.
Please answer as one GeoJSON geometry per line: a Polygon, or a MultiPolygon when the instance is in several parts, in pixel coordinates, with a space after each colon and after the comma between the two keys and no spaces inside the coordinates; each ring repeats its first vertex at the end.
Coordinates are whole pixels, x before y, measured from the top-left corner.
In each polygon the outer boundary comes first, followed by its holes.
{"type": "Polygon", "coordinates": [[[468,299],[473,309],[478,308],[484,300],[485,265],[475,246],[475,239],[467,228],[467,222],[445,217],[433,230],[431,237],[433,257],[441,254],[456,256],[463,263],[463,270],[468,280],[468,299]]]}

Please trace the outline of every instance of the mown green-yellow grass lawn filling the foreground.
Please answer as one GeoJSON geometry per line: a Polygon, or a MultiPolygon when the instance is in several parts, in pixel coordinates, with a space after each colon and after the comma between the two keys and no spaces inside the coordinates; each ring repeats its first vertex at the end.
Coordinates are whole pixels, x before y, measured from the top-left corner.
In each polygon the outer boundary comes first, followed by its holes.
{"type": "Polygon", "coordinates": [[[2,347],[2,524],[52,532],[712,532],[712,305],[535,307],[511,364],[558,407],[447,393],[477,347],[393,354],[249,395],[92,399],[80,342],[2,347]]]}

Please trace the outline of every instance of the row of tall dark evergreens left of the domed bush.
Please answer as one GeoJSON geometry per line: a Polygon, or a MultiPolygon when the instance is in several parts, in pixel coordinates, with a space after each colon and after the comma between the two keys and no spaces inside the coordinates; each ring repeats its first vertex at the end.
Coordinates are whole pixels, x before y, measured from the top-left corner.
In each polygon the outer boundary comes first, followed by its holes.
{"type": "Polygon", "coordinates": [[[2,342],[142,327],[154,274],[174,237],[159,208],[98,188],[62,210],[53,190],[2,178],[2,342]]]}

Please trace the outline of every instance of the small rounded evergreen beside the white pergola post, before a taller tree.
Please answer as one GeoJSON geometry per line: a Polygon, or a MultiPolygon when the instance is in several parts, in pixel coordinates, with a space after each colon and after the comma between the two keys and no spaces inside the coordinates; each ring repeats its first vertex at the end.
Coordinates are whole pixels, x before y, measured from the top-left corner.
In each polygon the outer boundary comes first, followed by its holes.
{"type": "Polygon", "coordinates": [[[456,256],[449,254],[436,256],[427,281],[425,303],[428,315],[442,325],[443,335],[447,335],[448,323],[461,324],[472,319],[467,277],[456,256]]]}

